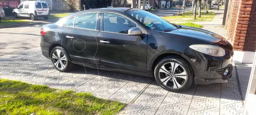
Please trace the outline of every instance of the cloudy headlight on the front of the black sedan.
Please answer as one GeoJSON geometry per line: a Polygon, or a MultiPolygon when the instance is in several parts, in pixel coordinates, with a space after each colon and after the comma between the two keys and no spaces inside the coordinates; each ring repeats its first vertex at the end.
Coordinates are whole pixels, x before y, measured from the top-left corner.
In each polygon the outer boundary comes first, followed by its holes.
{"type": "Polygon", "coordinates": [[[225,55],[225,50],[219,46],[196,44],[196,45],[190,45],[189,47],[198,52],[212,55],[212,56],[224,56],[225,55]]]}

